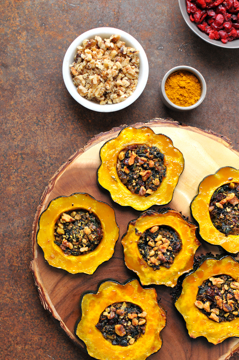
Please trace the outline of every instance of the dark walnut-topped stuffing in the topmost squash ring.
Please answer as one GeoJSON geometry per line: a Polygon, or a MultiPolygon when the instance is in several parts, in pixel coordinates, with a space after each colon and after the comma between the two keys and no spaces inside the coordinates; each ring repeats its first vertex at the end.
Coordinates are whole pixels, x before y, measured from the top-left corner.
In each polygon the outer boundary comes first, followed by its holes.
{"type": "Polygon", "coordinates": [[[153,194],[166,176],[164,155],[149,145],[130,145],[118,154],[117,174],[131,193],[153,194]]]}

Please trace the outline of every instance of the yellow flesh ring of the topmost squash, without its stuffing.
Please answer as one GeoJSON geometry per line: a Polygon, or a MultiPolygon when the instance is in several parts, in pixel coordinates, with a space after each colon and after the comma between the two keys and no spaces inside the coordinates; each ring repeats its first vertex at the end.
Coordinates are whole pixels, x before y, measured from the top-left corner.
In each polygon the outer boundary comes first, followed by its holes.
{"type": "Polygon", "coordinates": [[[173,147],[172,140],[163,134],[155,134],[149,127],[136,129],[127,126],[121,130],[117,138],[107,141],[100,149],[102,164],[98,169],[99,184],[109,190],[113,201],[122,206],[131,206],[136,210],[146,210],[152,205],[168,204],[179,176],[184,169],[182,153],[173,147]],[[116,164],[119,153],[129,145],[152,145],[164,155],[166,177],[161,185],[148,197],[131,193],[118,177],[116,164]]]}

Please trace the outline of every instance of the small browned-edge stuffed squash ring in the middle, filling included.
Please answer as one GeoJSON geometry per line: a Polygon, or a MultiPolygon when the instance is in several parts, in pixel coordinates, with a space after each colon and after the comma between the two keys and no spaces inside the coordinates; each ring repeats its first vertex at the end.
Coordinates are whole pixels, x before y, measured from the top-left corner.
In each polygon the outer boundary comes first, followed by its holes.
{"type": "Polygon", "coordinates": [[[130,221],[122,237],[125,264],[143,285],[174,287],[180,275],[193,269],[200,245],[197,227],[174,210],[145,211],[130,221]]]}

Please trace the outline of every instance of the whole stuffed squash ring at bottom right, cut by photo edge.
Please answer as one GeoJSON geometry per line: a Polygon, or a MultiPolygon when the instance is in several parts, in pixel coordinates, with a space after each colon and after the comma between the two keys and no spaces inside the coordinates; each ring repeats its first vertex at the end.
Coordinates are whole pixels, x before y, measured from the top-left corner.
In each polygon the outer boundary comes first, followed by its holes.
{"type": "Polygon", "coordinates": [[[239,337],[238,262],[231,256],[220,255],[209,256],[200,264],[186,275],[175,302],[189,336],[204,336],[213,344],[239,337]]]}

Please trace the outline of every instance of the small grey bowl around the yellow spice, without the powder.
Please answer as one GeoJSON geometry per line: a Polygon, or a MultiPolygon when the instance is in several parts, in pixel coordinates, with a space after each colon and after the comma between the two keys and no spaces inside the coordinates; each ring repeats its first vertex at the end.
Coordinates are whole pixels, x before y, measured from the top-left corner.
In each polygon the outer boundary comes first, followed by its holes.
{"type": "Polygon", "coordinates": [[[164,103],[164,105],[166,105],[169,109],[171,110],[175,110],[175,111],[188,111],[188,110],[192,110],[195,109],[198,105],[200,105],[203,101],[203,99],[205,98],[207,92],[207,85],[206,82],[204,80],[204,77],[202,76],[202,74],[200,74],[199,71],[197,71],[196,69],[190,67],[190,66],[176,66],[175,68],[172,68],[170,71],[168,71],[164,77],[163,80],[161,82],[160,85],[160,89],[159,89],[159,93],[160,93],[160,97],[162,102],[164,103]],[[173,104],[170,99],[168,99],[166,92],[165,92],[165,82],[168,78],[168,76],[170,76],[173,72],[175,71],[188,71],[191,72],[192,74],[194,74],[195,76],[197,76],[198,80],[200,81],[201,84],[201,96],[200,99],[197,101],[197,103],[191,105],[191,106],[178,106],[173,104]]]}

